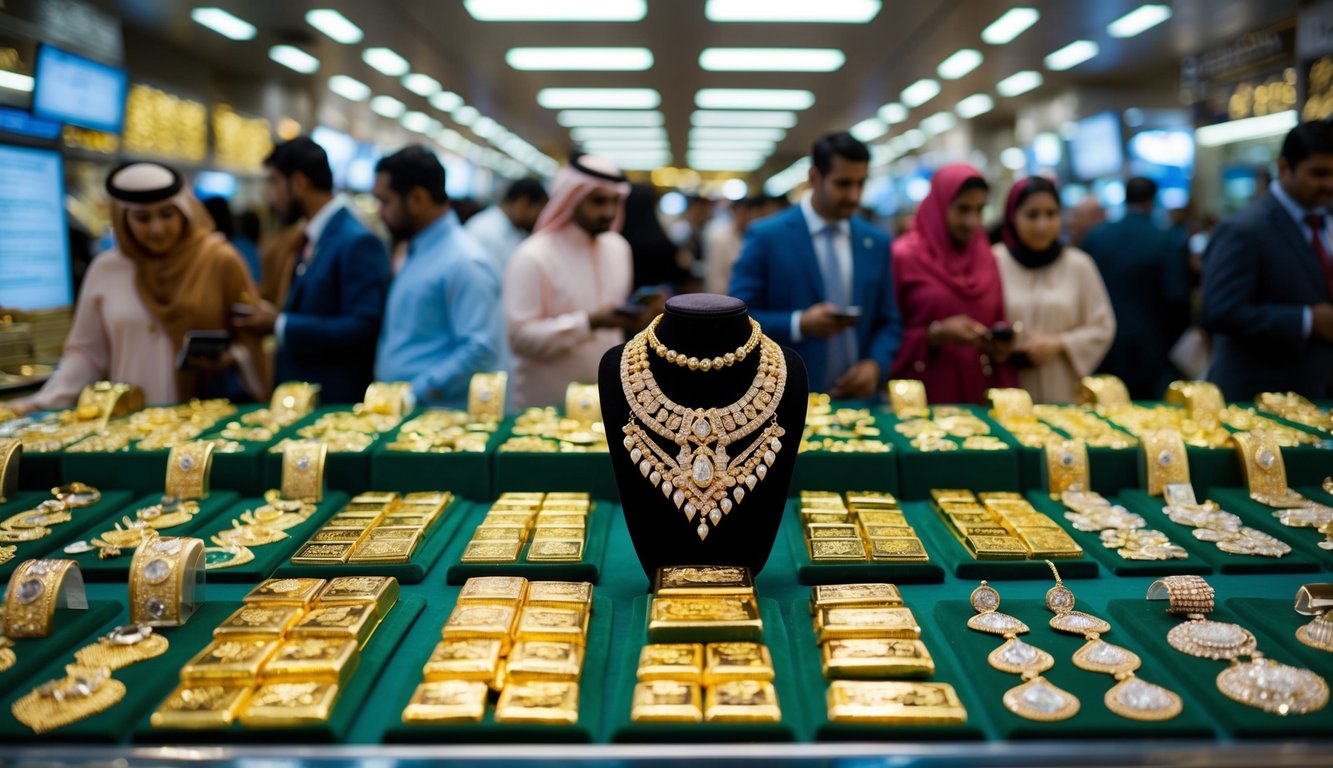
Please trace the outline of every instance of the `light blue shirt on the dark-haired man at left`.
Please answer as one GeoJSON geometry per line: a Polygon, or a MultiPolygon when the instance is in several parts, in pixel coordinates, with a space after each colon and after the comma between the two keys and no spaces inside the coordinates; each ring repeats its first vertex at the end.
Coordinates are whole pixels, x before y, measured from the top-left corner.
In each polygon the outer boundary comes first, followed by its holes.
{"type": "Polygon", "coordinates": [[[451,209],[408,244],[389,287],[377,381],[409,381],[417,403],[465,408],[473,373],[496,371],[504,347],[500,275],[451,209]]]}

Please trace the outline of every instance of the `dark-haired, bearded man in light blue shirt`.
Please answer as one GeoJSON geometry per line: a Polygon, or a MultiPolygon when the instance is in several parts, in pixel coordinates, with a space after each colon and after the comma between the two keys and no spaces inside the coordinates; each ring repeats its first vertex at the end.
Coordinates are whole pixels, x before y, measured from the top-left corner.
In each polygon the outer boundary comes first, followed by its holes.
{"type": "Polygon", "coordinates": [[[500,363],[500,273],[449,207],[435,152],[413,145],[380,160],[373,193],[384,225],[408,243],[389,288],[375,376],[409,381],[421,405],[467,408],[472,375],[500,363]]]}

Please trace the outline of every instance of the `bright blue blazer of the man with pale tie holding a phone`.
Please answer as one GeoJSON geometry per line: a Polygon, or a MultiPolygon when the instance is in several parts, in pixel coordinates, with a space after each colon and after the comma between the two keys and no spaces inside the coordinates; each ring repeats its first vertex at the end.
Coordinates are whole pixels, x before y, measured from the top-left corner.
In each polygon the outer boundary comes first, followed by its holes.
{"type": "MultiPolygon", "coordinates": [[[[828,341],[792,339],[792,312],[825,300],[824,276],[814,256],[805,215],[792,205],[745,232],[745,244],[732,271],[730,295],[749,305],[770,339],[796,349],[809,371],[810,385],[828,377],[828,341]]],[[[889,235],[852,217],[852,300],[861,308],[856,343],[861,360],[880,364],[880,384],[902,343],[902,319],[893,303],[889,235]]]]}

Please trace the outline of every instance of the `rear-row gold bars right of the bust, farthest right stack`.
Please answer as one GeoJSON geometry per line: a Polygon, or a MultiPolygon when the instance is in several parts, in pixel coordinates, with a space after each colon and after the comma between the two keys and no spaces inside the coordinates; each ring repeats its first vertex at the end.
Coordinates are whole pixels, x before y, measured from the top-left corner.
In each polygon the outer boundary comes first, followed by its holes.
{"type": "Polygon", "coordinates": [[[1082,557],[1082,547],[1021,493],[932,489],[930,501],[974,560],[1082,557]]]}

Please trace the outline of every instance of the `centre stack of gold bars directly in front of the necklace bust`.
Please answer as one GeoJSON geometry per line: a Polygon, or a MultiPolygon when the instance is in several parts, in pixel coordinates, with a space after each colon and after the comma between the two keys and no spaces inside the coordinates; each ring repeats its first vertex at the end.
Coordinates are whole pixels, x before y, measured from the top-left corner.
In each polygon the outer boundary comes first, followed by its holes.
{"type": "Polygon", "coordinates": [[[629,717],[635,723],[777,723],[773,659],[754,583],[733,565],[657,572],[629,717]]]}

